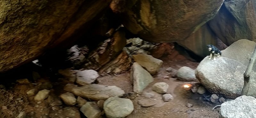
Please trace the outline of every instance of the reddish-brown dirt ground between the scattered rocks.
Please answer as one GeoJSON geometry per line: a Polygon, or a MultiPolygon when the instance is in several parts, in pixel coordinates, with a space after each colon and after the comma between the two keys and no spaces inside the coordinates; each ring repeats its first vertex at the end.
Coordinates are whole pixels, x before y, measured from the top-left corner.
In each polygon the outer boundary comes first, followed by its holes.
{"type": "MultiPolygon", "coordinates": [[[[201,95],[192,93],[190,90],[183,88],[185,83],[176,80],[176,78],[164,78],[164,76],[170,76],[170,73],[166,71],[168,67],[179,69],[182,66],[187,66],[195,69],[198,63],[191,62],[188,59],[168,59],[167,57],[161,58],[164,63],[159,72],[154,75],[155,81],[151,83],[144,92],[150,92],[155,94],[152,98],[156,102],[156,105],[151,107],[141,107],[138,104],[138,100],[144,98],[137,96],[133,99],[134,111],[126,118],[218,118],[219,108],[211,110],[215,104],[208,103],[200,100],[201,95]],[[174,97],[170,102],[163,102],[162,94],[156,93],[151,90],[151,86],[157,82],[165,82],[169,85],[167,93],[172,94],[174,97]],[[192,104],[191,108],[188,108],[187,103],[192,104]]],[[[48,82],[49,79],[43,79],[39,82],[48,82]]],[[[60,93],[63,93],[63,86],[66,82],[63,79],[56,79],[51,82],[53,88],[51,89],[51,96],[58,97],[60,93]]],[[[107,75],[98,79],[98,84],[103,85],[116,85],[123,89],[126,93],[132,92],[132,84],[130,83],[130,72],[125,72],[120,75],[107,75]]],[[[62,106],[50,106],[47,103],[47,99],[42,103],[36,103],[32,97],[28,97],[26,92],[30,89],[38,88],[37,84],[17,84],[12,83],[11,87],[0,86],[0,118],[15,118],[20,112],[25,111],[28,118],[67,118],[62,106]]],[[[77,109],[77,107],[73,107],[77,109]]],[[[81,114],[81,113],[80,113],[81,114]]],[[[79,114],[78,114],[79,115],[79,114]]],[[[82,117],[84,118],[84,116],[82,117]]]]}

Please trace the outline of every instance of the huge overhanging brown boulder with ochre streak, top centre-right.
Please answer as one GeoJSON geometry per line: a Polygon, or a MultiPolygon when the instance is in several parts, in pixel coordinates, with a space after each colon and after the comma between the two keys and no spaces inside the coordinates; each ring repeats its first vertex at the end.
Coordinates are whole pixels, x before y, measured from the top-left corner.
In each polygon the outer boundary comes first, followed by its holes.
{"type": "MultiPolygon", "coordinates": [[[[205,22],[214,18],[223,2],[224,0],[131,0],[120,11],[126,10],[122,14],[123,24],[133,34],[154,43],[176,42],[186,39],[205,22]]],[[[112,8],[117,7],[118,4],[112,8]]]]}

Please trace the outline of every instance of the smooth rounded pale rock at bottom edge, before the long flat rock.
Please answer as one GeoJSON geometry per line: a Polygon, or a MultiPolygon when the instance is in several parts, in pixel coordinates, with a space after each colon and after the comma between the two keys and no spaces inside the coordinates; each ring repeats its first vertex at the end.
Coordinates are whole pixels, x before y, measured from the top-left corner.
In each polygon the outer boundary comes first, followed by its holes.
{"type": "Polygon", "coordinates": [[[111,97],[103,105],[103,109],[108,118],[124,118],[134,110],[130,99],[111,97]]]}

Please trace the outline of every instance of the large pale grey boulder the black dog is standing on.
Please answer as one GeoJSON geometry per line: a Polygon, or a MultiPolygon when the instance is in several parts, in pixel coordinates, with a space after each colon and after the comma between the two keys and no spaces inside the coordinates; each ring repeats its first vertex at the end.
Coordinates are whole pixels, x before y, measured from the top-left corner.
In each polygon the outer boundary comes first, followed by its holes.
{"type": "MultiPolygon", "coordinates": [[[[235,99],[241,95],[244,86],[246,66],[226,57],[218,57],[216,61],[205,57],[195,70],[196,78],[212,93],[235,99]]],[[[256,97],[256,73],[252,71],[251,86],[248,96],[256,97]]]]}

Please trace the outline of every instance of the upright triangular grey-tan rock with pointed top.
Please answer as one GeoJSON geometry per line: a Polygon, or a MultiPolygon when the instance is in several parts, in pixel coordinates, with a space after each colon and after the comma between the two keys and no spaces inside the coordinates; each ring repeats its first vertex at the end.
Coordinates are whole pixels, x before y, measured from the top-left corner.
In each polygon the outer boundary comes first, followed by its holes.
{"type": "Polygon", "coordinates": [[[133,84],[133,91],[141,93],[149,83],[152,83],[154,78],[141,67],[138,63],[134,62],[131,69],[131,82],[133,84]]]}

